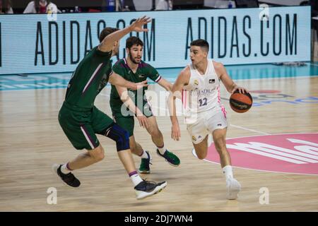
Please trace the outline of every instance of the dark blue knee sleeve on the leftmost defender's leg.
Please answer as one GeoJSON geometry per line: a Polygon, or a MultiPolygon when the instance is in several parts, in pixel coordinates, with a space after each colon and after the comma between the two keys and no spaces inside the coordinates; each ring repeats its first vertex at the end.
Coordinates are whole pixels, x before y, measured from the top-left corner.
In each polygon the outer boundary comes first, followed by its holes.
{"type": "Polygon", "coordinates": [[[116,142],[117,151],[129,149],[129,133],[117,124],[105,131],[105,136],[116,142]]]}

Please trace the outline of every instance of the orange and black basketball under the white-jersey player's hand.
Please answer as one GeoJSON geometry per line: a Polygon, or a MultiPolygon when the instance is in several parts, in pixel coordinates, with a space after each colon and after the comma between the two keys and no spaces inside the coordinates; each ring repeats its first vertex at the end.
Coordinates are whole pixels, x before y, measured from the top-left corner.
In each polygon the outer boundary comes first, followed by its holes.
{"type": "Polygon", "coordinates": [[[247,112],[253,104],[252,96],[249,93],[240,93],[236,90],[230,96],[230,107],[237,113],[247,112]]]}

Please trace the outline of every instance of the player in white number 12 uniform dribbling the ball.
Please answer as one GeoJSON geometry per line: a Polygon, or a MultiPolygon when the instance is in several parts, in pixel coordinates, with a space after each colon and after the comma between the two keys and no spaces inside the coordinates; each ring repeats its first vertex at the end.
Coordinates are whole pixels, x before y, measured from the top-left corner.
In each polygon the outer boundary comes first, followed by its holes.
{"type": "Polygon", "coordinates": [[[190,44],[192,64],[186,66],[172,87],[169,97],[170,119],[172,121],[172,139],[179,141],[181,136],[176,115],[175,97],[182,99],[185,106],[184,121],[192,137],[196,156],[203,160],[208,153],[208,134],[213,136],[214,145],[220,155],[220,164],[225,174],[227,198],[236,199],[241,185],[233,177],[230,154],[226,149],[225,136],[228,123],[226,112],[220,103],[220,81],[229,93],[239,90],[228,76],[223,64],[208,59],[208,42],[194,40],[190,44]]]}

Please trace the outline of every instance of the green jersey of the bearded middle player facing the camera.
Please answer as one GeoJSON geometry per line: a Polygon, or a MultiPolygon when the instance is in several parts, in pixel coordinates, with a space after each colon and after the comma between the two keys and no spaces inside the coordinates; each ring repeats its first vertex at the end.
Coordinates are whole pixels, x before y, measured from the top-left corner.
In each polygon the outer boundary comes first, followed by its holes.
{"type": "MultiPolygon", "coordinates": [[[[146,81],[147,78],[150,78],[151,80],[158,83],[158,81],[160,81],[161,79],[161,76],[159,75],[158,71],[155,70],[153,66],[151,66],[150,64],[146,64],[143,61],[139,63],[136,73],[131,71],[131,69],[129,68],[127,64],[126,59],[121,59],[117,61],[117,63],[114,64],[114,66],[112,67],[112,70],[114,71],[114,73],[119,74],[119,76],[122,76],[127,81],[131,81],[133,83],[141,83],[142,81],[146,81]]],[[[139,107],[138,103],[143,103],[144,105],[146,102],[145,90],[147,90],[146,87],[142,88],[142,95],[141,95],[141,90],[128,89],[129,96],[131,97],[131,100],[135,102],[135,105],[137,107],[139,107]]],[[[112,90],[110,91],[110,107],[112,108],[112,114],[114,116],[121,114],[122,105],[123,105],[123,102],[122,100],[120,100],[117,89],[114,85],[112,85],[112,90]]]]}

